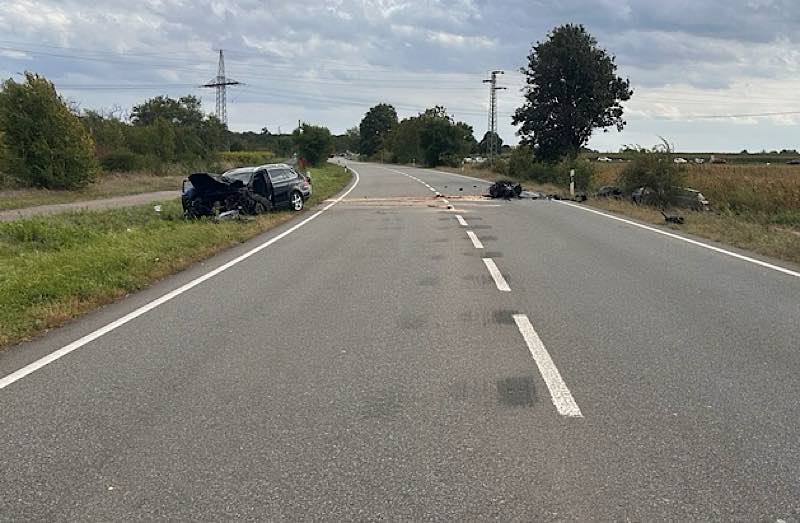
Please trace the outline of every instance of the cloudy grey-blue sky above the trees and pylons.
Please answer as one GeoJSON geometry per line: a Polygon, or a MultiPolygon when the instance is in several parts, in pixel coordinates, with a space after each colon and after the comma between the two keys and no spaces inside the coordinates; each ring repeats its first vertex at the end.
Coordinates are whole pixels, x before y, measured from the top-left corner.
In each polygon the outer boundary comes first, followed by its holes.
{"type": "Polygon", "coordinates": [[[401,117],[444,105],[486,131],[488,71],[503,69],[500,134],[516,143],[519,68],[554,26],[581,23],[635,94],[614,151],[665,136],[684,151],[800,148],[798,0],[1,0],[0,75],[44,74],[84,108],[193,93],[227,73],[235,130],[343,132],[379,102],[401,117]],[[781,114],[775,114],[781,113],[781,114]],[[792,114],[795,113],[795,114],[792,114]],[[759,115],[759,116],[755,116],[759,115]],[[733,117],[735,116],[735,117],[733,117]]]}

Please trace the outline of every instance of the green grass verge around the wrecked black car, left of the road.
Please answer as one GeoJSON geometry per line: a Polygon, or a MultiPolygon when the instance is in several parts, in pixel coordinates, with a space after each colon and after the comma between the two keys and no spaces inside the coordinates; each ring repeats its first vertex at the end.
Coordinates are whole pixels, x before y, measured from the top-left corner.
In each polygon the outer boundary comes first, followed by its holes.
{"type": "MultiPolygon", "coordinates": [[[[314,205],[350,180],[341,167],[312,168],[314,205]]],[[[0,347],[62,325],[291,218],[185,220],[180,202],[0,223],[0,347]]]]}

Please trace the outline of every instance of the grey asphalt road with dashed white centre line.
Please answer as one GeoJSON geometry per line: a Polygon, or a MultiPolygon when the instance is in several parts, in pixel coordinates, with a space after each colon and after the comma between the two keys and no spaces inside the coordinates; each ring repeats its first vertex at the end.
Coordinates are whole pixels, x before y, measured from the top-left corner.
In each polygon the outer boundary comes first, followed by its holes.
{"type": "Polygon", "coordinates": [[[0,520],[800,520],[797,268],[353,167],[302,226],[0,353],[184,289],[6,379],[0,520]]]}

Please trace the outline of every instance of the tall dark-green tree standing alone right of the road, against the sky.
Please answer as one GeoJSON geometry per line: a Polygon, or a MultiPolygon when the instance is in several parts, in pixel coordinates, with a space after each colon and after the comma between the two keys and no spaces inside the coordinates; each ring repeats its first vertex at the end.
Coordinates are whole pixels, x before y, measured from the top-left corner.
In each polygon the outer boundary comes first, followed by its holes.
{"type": "Polygon", "coordinates": [[[630,81],[617,76],[614,57],[582,25],[556,27],[528,55],[525,104],[513,123],[537,159],[575,157],[594,129],[625,126],[621,103],[633,95],[630,81]]]}

